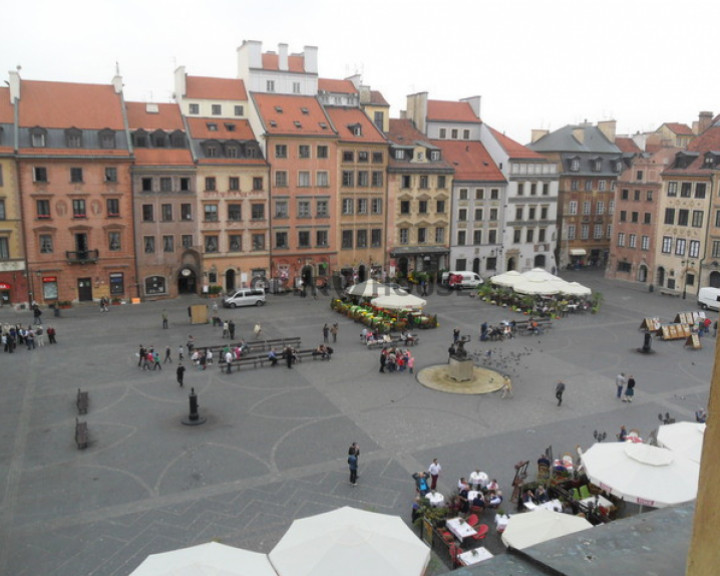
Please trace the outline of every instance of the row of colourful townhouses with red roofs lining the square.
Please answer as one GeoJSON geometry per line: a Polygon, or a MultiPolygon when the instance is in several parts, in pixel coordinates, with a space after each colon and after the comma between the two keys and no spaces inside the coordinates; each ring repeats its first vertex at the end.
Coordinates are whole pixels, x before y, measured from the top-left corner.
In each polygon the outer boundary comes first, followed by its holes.
{"type": "Polygon", "coordinates": [[[125,101],[119,74],[7,84],[4,304],[586,265],[676,293],[720,285],[709,113],[523,146],[481,119],[480,97],[413,94],[391,119],[359,76],[319,77],[317,48],[256,41],[235,78],[179,67],[173,103],[125,101]]]}

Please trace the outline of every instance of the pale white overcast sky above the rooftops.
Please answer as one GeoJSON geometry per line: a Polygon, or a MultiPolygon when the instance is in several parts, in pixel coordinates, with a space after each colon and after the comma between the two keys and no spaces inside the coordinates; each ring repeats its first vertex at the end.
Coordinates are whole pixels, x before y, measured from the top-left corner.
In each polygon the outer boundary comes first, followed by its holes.
{"type": "Polygon", "coordinates": [[[407,94],[482,96],[482,118],[527,143],[532,128],[617,120],[618,133],[720,112],[712,0],[23,0],[5,3],[0,70],[108,83],[167,102],[173,71],[235,77],[236,48],[319,49],[323,78],[356,72],[391,116],[407,94]]]}

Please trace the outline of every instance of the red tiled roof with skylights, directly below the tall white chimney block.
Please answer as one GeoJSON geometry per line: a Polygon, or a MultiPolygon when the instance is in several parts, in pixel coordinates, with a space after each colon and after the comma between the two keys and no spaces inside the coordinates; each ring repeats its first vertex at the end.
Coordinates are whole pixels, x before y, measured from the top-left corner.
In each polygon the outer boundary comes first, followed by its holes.
{"type": "Polygon", "coordinates": [[[251,97],[268,134],[336,136],[330,119],[312,96],[253,92],[251,97]]]}

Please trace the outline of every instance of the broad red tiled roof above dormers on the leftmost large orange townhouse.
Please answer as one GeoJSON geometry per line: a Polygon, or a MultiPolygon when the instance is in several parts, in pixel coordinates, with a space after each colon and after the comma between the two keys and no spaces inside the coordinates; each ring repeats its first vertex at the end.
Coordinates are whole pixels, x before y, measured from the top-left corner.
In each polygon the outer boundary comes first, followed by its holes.
{"type": "Polygon", "coordinates": [[[110,84],[21,80],[20,126],[124,130],[120,95],[110,84]]]}

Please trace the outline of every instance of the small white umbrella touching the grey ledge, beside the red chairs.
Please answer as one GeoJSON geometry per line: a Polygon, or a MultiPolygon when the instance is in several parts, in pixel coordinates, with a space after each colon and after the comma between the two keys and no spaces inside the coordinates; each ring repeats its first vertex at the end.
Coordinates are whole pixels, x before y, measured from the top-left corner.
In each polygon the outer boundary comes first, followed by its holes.
{"type": "Polygon", "coordinates": [[[522,550],[592,527],[585,518],[539,508],[510,516],[502,541],[505,546],[522,550]]]}

